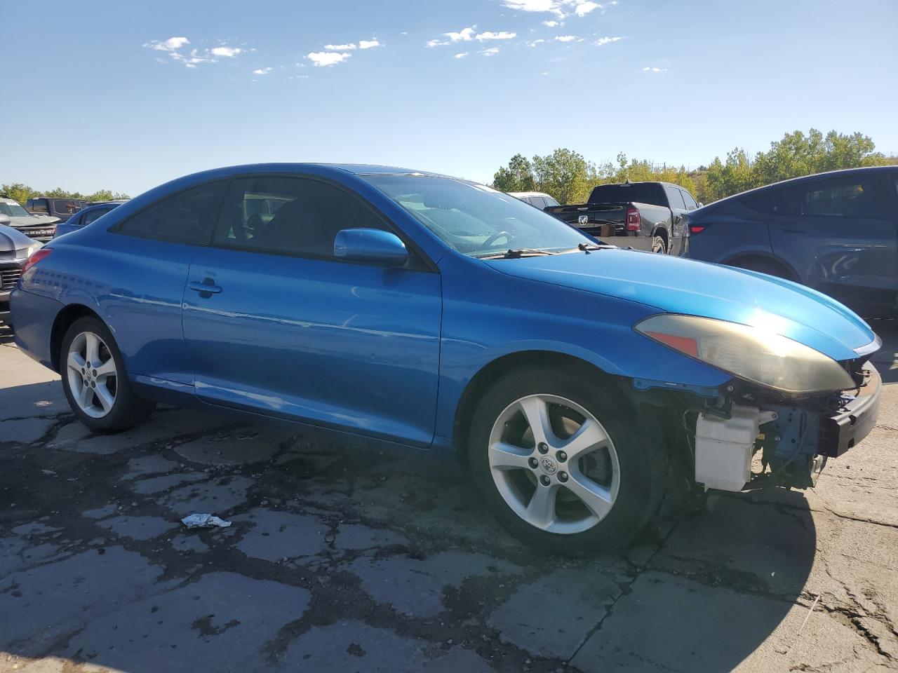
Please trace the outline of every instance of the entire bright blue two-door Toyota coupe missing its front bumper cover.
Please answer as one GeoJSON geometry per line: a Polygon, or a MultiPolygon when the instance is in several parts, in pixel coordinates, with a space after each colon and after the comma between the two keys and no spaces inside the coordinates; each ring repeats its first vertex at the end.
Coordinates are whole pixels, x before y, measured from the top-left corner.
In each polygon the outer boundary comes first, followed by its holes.
{"type": "Polygon", "coordinates": [[[684,483],[814,485],[881,387],[879,339],[823,294],[380,166],[176,179],[34,253],[12,310],[95,431],[164,402],[455,452],[507,529],[572,555],[684,483]]]}

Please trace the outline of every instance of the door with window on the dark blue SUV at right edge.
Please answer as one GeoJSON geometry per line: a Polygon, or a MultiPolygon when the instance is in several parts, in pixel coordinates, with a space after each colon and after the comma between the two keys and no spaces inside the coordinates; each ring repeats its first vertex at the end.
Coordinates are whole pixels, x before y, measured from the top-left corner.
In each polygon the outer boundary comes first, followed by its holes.
{"type": "Polygon", "coordinates": [[[781,196],[768,227],[774,255],[807,285],[853,309],[894,307],[898,236],[885,173],[806,180],[781,196]]]}

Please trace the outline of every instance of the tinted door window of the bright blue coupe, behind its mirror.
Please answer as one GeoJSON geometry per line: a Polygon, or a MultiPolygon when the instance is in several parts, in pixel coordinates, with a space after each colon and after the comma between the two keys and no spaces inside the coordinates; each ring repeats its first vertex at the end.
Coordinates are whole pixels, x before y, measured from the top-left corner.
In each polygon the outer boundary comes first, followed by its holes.
{"type": "Polygon", "coordinates": [[[263,175],[233,180],[214,242],[332,258],[334,238],[343,229],[389,231],[370,207],[340,188],[314,179],[263,175]]]}

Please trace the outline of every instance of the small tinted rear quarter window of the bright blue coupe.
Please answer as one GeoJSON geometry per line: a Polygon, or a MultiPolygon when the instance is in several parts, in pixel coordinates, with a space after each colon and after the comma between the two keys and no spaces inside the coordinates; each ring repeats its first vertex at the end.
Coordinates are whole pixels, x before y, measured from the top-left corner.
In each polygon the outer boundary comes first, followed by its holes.
{"type": "Polygon", "coordinates": [[[145,239],[206,245],[212,237],[227,182],[207,182],[163,198],[119,224],[116,231],[145,239]]]}

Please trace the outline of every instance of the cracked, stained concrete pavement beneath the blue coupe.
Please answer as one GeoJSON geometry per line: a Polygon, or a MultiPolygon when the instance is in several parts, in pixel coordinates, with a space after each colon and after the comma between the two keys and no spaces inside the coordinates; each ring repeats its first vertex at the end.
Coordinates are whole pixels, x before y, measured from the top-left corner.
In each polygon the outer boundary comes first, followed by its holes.
{"type": "Polygon", "coordinates": [[[875,328],[879,424],[816,490],[712,495],[578,562],[427,452],[171,408],[89,433],[0,328],[0,671],[898,669],[898,328],[875,328]]]}

